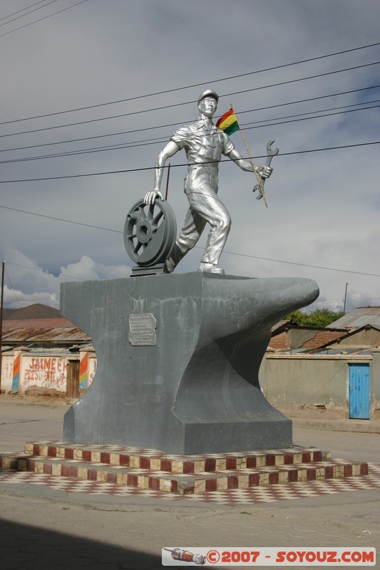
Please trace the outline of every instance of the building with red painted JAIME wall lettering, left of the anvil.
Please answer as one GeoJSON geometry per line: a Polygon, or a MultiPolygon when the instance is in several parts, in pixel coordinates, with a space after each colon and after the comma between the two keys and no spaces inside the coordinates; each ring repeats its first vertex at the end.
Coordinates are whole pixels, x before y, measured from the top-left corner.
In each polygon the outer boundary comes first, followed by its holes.
{"type": "Polygon", "coordinates": [[[4,309],[1,392],[78,398],[96,371],[91,338],[57,309],[4,309]]]}

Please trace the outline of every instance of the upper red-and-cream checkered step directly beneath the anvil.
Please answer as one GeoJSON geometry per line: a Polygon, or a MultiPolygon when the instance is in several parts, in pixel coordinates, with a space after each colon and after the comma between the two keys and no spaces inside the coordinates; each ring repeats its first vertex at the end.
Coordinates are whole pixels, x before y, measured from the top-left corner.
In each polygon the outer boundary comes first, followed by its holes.
{"type": "Polygon", "coordinates": [[[207,454],[167,455],[157,450],[118,445],[73,445],[63,442],[27,442],[26,455],[110,463],[133,469],[176,474],[204,473],[234,469],[255,469],[274,465],[294,465],[331,459],[328,451],[294,447],[287,450],[207,454]]]}

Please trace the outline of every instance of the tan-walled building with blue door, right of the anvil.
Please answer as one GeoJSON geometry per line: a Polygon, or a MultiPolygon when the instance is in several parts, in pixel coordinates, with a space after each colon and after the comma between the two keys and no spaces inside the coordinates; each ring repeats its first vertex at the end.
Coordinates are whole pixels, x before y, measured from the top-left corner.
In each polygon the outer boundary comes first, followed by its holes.
{"type": "Polygon", "coordinates": [[[380,417],[380,307],[358,307],[324,329],[279,323],[269,347],[260,386],[274,407],[380,417]]]}

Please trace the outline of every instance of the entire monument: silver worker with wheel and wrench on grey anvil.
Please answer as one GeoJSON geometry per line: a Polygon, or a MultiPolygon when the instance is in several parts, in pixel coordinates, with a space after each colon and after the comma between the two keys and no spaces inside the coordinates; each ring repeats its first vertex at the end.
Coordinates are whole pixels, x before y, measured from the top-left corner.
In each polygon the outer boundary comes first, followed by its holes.
{"type": "Polygon", "coordinates": [[[133,276],[61,286],[61,312],[91,336],[98,358],[93,383],[65,415],[68,442],[177,455],[292,445],[292,422],[265,400],[258,371],[274,323],[312,303],[319,290],[308,279],[227,276],[218,265],[230,231],[217,197],[221,156],[255,172],[262,190],[278,150],[269,141],[267,165],[256,170],[212,124],[217,100],[210,89],[200,95],[198,119],[174,133],[158,156],[153,191],[127,214],[133,276]],[[175,240],[160,183],[165,161],[180,149],[188,157],[189,209],[175,240]],[[170,275],[207,223],[197,272],[170,275]]]}

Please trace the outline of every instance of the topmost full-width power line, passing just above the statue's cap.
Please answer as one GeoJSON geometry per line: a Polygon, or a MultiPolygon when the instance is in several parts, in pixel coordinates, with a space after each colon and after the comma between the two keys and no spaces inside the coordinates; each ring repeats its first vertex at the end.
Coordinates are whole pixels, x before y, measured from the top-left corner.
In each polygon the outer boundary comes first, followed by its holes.
{"type": "MultiPolygon", "coordinates": [[[[79,4],[81,4],[81,3],[79,3],[79,4]]],[[[71,6],[71,7],[73,7],[73,6],[71,6]]],[[[67,110],[63,110],[63,111],[56,111],[55,113],[46,113],[44,115],[34,115],[32,117],[26,117],[26,118],[22,118],[22,119],[14,119],[11,121],[6,121],[5,123],[0,123],[0,125],[6,125],[8,123],[16,123],[16,122],[21,121],[21,120],[32,120],[32,119],[39,119],[39,118],[44,118],[44,117],[51,117],[53,115],[63,115],[64,113],[74,113],[76,111],[93,109],[93,108],[103,107],[106,105],[115,105],[116,103],[127,103],[128,101],[133,101],[133,100],[138,100],[138,99],[143,99],[143,98],[148,98],[148,97],[154,97],[155,95],[167,95],[168,93],[175,93],[175,91],[200,87],[200,86],[204,86],[204,85],[211,85],[212,83],[219,83],[220,81],[230,81],[230,79],[247,77],[247,76],[255,75],[257,73],[265,73],[267,71],[274,71],[276,69],[287,68],[290,66],[297,66],[300,63],[309,63],[310,61],[317,61],[319,59],[330,58],[333,56],[340,56],[344,53],[351,53],[353,51],[359,51],[361,49],[366,49],[366,48],[373,48],[375,46],[380,46],[380,42],[369,43],[366,46],[359,46],[356,48],[350,48],[350,49],[346,49],[346,50],[342,50],[342,51],[336,51],[334,53],[327,53],[323,56],[316,56],[314,58],[307,58],[307,59],[302,59],[299,61],[293,61],[291,63],[284,63],[284,64],[279,65],[279,66],[273,66],[273,67],[269,67],[269,68],[258,69],[256,71],[248,71],[247,73],[240,73],[239,75],[236,75],[236,76],[229,76],[229,77],[214,79],[212,81],[204,81],[203,83],[192,83],[192,85],[188,85],[188,86],[177,87],[177,88],[167,89],[167,90],[163,90],[163,91],[156,91],[155,93],[147,93],[145,95],[136,95],[135,97],[128,97],[125,99],[108,101],[106,103],[98,103],[96,105],[87,105],[86,107],[78,107],[78,108],[67,109],[67,110]]],[[[192,101],[192,103],[194,103],[194,101],[192,101]]]]}

